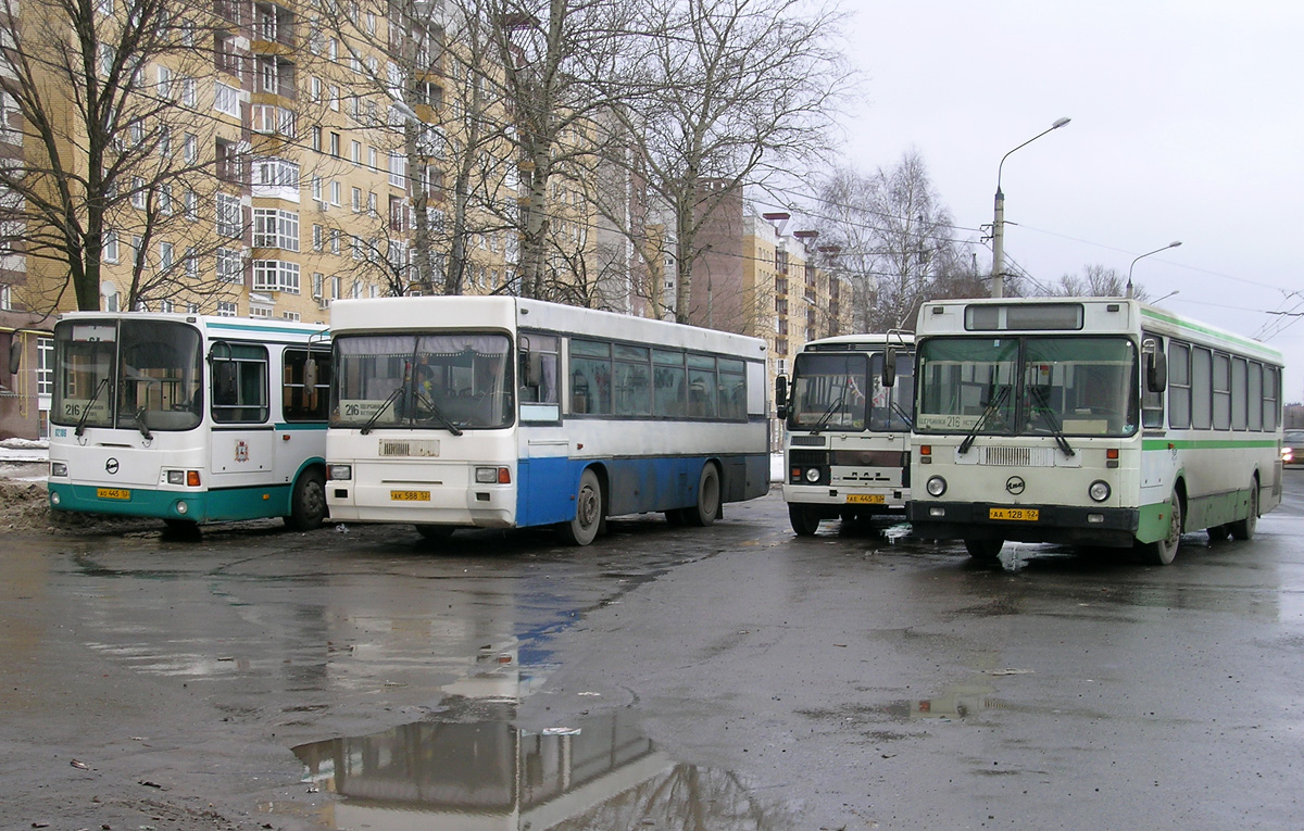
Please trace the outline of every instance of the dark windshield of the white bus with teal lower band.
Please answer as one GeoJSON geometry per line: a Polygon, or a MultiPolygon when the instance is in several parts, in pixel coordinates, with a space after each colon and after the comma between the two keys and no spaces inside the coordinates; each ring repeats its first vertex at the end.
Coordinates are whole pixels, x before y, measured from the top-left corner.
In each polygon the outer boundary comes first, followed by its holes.
{"type": "Polygon", "coordinates": [[[193,430],[203,413],[200,332],[175,320],[55,326],[51,421],[77,427],[193,430]]]}

